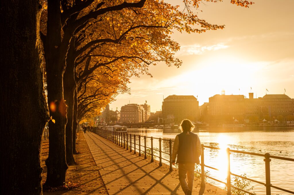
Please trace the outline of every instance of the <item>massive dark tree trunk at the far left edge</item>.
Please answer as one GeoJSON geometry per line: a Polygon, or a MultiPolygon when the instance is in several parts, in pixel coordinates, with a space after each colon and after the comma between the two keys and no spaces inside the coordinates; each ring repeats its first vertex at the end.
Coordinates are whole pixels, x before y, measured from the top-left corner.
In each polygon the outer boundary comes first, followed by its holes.
{"type": "Polygon", "coordinates": [[[41,142],[48,107],[43,87],[41,1],[1,1],[1,194],[42,194],[41,142]]]}

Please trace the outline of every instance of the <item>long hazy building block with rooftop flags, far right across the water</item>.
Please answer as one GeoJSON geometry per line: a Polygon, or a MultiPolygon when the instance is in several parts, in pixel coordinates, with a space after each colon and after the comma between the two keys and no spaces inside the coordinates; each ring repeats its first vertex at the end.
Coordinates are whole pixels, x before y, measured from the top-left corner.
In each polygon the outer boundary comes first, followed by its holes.
{"type": "Polygon", "coordinates": [[[294,99],[285,94],[267,94],[254,98],[244,95],[214,95],[208,103],[200,106],[200,117],[210,125],[223,125],[234,123],[258,123],[267,121],[294,120],[294,99]],[[207,109],[207,112],[206,112],[207,109]]]}

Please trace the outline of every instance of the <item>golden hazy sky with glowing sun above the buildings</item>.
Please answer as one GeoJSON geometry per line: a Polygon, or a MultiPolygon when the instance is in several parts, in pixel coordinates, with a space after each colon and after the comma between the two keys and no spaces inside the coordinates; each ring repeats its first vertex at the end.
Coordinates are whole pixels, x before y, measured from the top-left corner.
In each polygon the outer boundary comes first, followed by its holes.
{"type": "MultiPolygon", "coordinates": [[[[176,4],[181,1],[170,1],[176,4]]],[[[150,67],[153,78],[131,78],[131,95],[119,94],[110,108],[120,110],[131,103],[151,105],[151,112],[161,110],[163,97],[198,95],[199,105],[220,94],[254,97],[282,94],[294,98],[294,1],[255,0],[246,9],[221,3],[201,5],[201,19],[225,25],[223,30],[186,34],[175,32],[180,43],[176,54],[183,60],[180,68],[160,64],[150,67]]]]}

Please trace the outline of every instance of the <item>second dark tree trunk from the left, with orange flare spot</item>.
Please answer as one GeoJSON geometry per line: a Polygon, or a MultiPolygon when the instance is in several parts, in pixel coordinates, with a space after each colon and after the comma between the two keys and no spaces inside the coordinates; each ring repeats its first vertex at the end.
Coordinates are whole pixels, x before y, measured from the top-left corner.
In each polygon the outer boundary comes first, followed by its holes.
{"type": "Polygon", "coordinates": [[[48,1],[47,36],[44,43],[49,122],[49,156],[46,159],[47,186],[61,186],[68,168],[65,151],[66,105],[63,96],[63,74],[68,50],[67,38],[61,42],[60,1],[48,1]]]}

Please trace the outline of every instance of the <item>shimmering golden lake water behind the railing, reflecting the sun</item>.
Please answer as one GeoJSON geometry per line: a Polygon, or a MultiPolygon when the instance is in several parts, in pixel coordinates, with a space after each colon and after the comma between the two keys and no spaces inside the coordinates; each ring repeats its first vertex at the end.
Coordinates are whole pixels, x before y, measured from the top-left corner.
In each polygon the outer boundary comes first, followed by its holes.
{"type": "MultiPolygon", "coordinates": [[[[128,133],[173,140],[178,134],[178,131],[128,129],[128,133]]],[[[246,152],[259,154],[270,153],[274,156],[294,158],[294,128],[279,131],[261,130],[245,132],[207,132],[205,130],[200,130],[200,132],[196,134],[199,136],[202,144],[221,148],[221,150],[206,148],[204,150],[204,161],[206,165],[220,169],[220,171],[216,171],[205,167],[205,170],[209,171],[210,176],[224,182],[226,182],[227,172],[227,154],[225,151],[227,147],[246,152]]],[[[147,146],[150,147],[150,139],[147,139],[146,142],[147,146]]],[[[144,145],[143,138],[141,139],[141,145],[144,145]]],[[[158,139],[153,139],[153,147],[159,148],[158,139]]],[[[169,144],[167,141],[162,141],[162,149],[168,153],[169,144]]],[[[144,149],[141,148],[141,150],[144,149]]],[[[169,159],[169,155],[164,153],[162,153],[162,157],[169,159]]],[[[158,158],[156,159],[158,160],[158,158]]],[[[230,155],[231,173],[238,175],[246,174],[248,178],[265,183],[265,162],[263,159],[264,157],[232,152],[230,155]]],[[[163,163],[168,164],[168,162],[164,161],[163,163]]],[[[270,162],[270,178],[272,185],[294,191],[294,162],[272,159],[270,162]]],[[[224,188],[224,184],[213,180],[208,181],[214,182],[214,185],[220,188],[224,188]]],[[[233,176],[231,176],[231,181],[234,181],[233,176]]],[[[251,186],[254,186],[251,192],[254,191],[256,194],[265,194],[265,186],[255,182],[251,182],[250,187],[251,186]]],[[[274,188],[271,189],[271,193],[289,194],[274,188]]]]}

